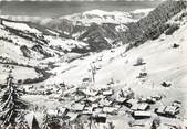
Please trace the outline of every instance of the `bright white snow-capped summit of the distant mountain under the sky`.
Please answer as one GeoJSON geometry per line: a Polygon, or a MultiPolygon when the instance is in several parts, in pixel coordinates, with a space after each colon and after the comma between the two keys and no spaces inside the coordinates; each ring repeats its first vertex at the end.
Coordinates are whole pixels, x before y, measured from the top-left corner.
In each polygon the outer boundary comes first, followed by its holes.
{"type": "Polygon", "coordinates": [[[67,19],[72,22],[74,22],[74,23],[81,22],[85,25],[86,24],[90,25],[91,23],[121,24],[121,23],[135,22],[135,20],[132,19],[132,15],[127,12],[118,12],[118,11],[106,12],[106,11],[103,11],[103,10],[85,11],[83,13],[62,17],[60,19],[67,19]]]}

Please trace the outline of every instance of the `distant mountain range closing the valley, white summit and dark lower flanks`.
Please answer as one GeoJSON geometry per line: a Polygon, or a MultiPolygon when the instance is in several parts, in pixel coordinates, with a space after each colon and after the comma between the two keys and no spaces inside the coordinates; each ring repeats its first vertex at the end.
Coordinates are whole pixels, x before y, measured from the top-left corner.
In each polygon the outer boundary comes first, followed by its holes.
{"type": "Polygon", "coordinates": [[[45,26],[60,36],[74,39],[87,43],[92,51],[111,49],[121,44],[121,32],[126,30],[129,22],[137,21],[137,15],[143,17],[147,11],[139,12],[106,12],[91,10],[60,18],[13,17],[3,15],[15,21],[29,21],[45,26]],[[136,19],[135,19],[136,18],[136,19]]]}

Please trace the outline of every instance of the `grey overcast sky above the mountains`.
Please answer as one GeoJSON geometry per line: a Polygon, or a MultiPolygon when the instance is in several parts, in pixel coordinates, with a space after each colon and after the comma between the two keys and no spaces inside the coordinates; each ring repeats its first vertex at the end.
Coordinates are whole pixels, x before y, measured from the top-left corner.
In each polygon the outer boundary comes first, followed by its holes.
{"type": "MultiPolygon", "coordinates": [[[[2,0],[0,0],[2,1],[2,0]]],[[[136,9],[155,8],[162,0],[21,0],[21,1],[53,1],[53,2],[18,2],[19,0],[3,0],[15,2],[0,2],[1,14],[4,15],[39,15],[59,17],[87,10],[133,11],[136,9]],[[62,2],[55,2],[62,1],[62,2]],[[63,2],[70,1],[70,2],[63,2]],[[80,2],[71,2],[80,1],[80,2]],[[84,2],[91,1],[91,2],[84,2]],[[106,1],[106,2],[97,2],[106,1]],[[113,1],[113,2],[110,2],[113,1]],[[122,2],[115,2],[122,1],[122,2]]]]}

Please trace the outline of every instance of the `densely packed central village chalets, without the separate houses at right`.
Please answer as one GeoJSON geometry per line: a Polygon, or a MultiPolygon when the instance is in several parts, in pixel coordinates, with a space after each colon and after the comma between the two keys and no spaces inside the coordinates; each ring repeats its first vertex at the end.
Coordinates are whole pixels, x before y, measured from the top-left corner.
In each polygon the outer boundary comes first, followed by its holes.
{"type": "Polygon", "coordinates": [[[60,117],[67,121],[74,122],[81,119],[82,116],[87,116],[96,122],[106,122],[108,115],[117,115],[123,103],[128,98],[134,98],[134,93],[121,90],[116,94],[112,88],[92,89],[92,88],[74,88],[64,92],[56,99],[63,103],[67,101],[71,105],[64,105],[55,109],[48,109],[46,114],[51,117],[60,117]],[[118,95],[120,94],[120,95],[118,95]],[[118,96],[115,99],[115,96],[118,96]]]}

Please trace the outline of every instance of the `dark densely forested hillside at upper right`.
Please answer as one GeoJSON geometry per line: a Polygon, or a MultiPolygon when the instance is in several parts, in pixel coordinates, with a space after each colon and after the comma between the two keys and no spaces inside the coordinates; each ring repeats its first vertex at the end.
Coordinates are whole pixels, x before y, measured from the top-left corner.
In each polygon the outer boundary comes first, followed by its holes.
{"type": "Polygon", "coordinates": [[[138,45],[147,40],[157,39],[168,28],[173,26],[173,24],[167,24],[166,22],[186,9],[186,1],[183,0],[164,1],[138,22],[127,24],[128,30],[123,33],[123,40],[125,43],[133,42],[135,45],[138,45]]]}

